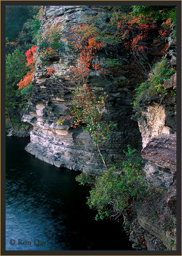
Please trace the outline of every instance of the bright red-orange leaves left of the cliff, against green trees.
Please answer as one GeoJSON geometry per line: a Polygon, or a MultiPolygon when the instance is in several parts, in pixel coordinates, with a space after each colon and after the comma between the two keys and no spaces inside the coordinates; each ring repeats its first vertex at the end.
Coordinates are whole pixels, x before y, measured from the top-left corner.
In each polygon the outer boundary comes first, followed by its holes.
{"type": "Polygon", "coordinates": [[[36,52],[36,45],[33,45],[29,50],[26,52],[26,57],[27,57],[27,63],[26,66],[30,67],[30,71],[27,72],[27,74],[24,76],[23,79],[17,84],[19,89],[24,89],[27,86],[29,86],[32,82],[33,78],[33,68],[35,66],[35,60],[33,58],[35,52],[36,52]]]}

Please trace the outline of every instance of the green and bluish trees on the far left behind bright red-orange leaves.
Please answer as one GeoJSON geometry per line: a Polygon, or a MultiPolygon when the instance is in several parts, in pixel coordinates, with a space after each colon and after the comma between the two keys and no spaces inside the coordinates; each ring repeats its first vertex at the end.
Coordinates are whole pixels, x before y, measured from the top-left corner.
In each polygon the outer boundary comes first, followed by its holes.
{"type": "Polygon", "coordinates": [[[22,91],[17,84],[27,73],[26,47],[32,46],[35,34],[39,29],[36,13],[39,6],[6,7],[6,121],[17,126],[20,124],[19,113],[25,109],[32,87],[22,91]],[[18,37],[18,41],[15,41],[18,37]],[[14,42],[11,42],[14,41],[14,42]],[[11,54],[8,54],[11,53],[11,54]]]}

